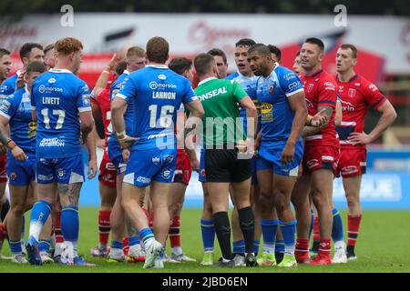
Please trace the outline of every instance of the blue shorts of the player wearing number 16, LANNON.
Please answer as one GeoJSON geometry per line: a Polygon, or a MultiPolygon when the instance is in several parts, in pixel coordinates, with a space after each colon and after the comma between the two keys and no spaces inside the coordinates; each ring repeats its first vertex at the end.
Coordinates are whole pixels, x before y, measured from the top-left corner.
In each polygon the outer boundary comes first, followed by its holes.
{"type": "Polygon", "coordinates": [[[132,150],[123,182],[138,187],[149,186],[152,181],[172,183],[176,166],[176,148],[132,150]]]}

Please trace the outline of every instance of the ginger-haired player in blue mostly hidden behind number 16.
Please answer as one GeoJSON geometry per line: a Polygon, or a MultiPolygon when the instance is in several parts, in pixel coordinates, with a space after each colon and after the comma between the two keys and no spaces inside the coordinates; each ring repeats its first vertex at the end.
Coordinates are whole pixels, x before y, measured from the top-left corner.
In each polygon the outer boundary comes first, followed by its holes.
{"type": "MultiPolygon", "coordinates": [[[[124,71],[122,75],[118,76],[118,79],[109,88],[109,98],[113,102],[116,95],[123,84],[124,80],[128,75],[134,71],[142,69],[147,63],[145,56],[145,50],[138,46],[131,46],[128,48],[126,55],[127,70],[124,71]]],[[[134,108],[132,104],[128,104],[127,109],[125,109],[124,120],[126,124],[126,132],[128,132],[133,123],[134,108]]],[[[112,111],[111,111],[112,115],[112,111]]],[[[125,222],[128,220],[124,208],[122,206],[122,180],[124,178],[125,169],[127,166],[126,161],[122,156],[121,147],[119,146],[116,135],[110,135],[108,138],[108,157],[117,169],[117,198],[116,202],[112,208],[110,215],[110,226],[111,226],[111,250],[108,254],[108,262],[123,262],[126,260],[122,239],[126,235],[124,234],[125,222]]],[[[128,239],[129,252],[127,256],[127,261],[132,263],[136,261],[142,261],[145,257],[141,246],[139,245],[138,235],[134,234],[133,227],[127,227],[128,234],[130,236],[128,239]]]]}

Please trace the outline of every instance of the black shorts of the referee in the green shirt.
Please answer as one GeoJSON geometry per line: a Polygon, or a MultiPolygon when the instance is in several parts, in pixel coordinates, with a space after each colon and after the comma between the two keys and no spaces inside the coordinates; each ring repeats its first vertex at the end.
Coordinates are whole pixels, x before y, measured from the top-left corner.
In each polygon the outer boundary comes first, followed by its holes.
{"type": "Polygon", "coordinates": [[[238,159],[237,149],[205,149],[207,182],[240,183],[251,177],[251,160],[238,159]]]}

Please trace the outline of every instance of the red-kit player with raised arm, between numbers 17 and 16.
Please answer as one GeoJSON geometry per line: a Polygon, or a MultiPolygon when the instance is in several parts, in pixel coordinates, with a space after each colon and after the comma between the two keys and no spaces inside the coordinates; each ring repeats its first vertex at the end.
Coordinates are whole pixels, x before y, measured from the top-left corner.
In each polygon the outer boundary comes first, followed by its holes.
{"type": "Polygon", "coordinates": [[[117,170],[108,158],[107,139],[111,135],[111,108],[109,102],[109,87],[114,78],[122,74],[125,69],[125,62],[119,62],[116,55],[113,55],[108,65],[104,68],[97,79],[97,83],[92,92],[91,105],[93,115],[101,116],[104,125],[104,139],[100,139],[97,131],[93,131],[97,140],[97,146],[104,149],[104,156],[99,166],[98,188],[100,196],[100,208],[98,212],[98,246],[92,247],[90,253],[92,256],[106,256],[108,253],[108,236],[110,232],[109,216],[117,197],[117,170]],[[112,71],[115,70],[115,74],[112,71]]]}

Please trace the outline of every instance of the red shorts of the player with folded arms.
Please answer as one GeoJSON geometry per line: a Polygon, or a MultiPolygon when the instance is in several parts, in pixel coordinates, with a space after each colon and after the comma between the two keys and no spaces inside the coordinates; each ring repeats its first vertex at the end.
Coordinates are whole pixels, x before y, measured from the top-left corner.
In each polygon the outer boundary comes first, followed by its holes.
{"type": "Polygon", "coordinates": [[[305,146],[302,160],[303,174],[329,169],[335,175],[339,156],[339,147],[336,146],[305,146]]]}

